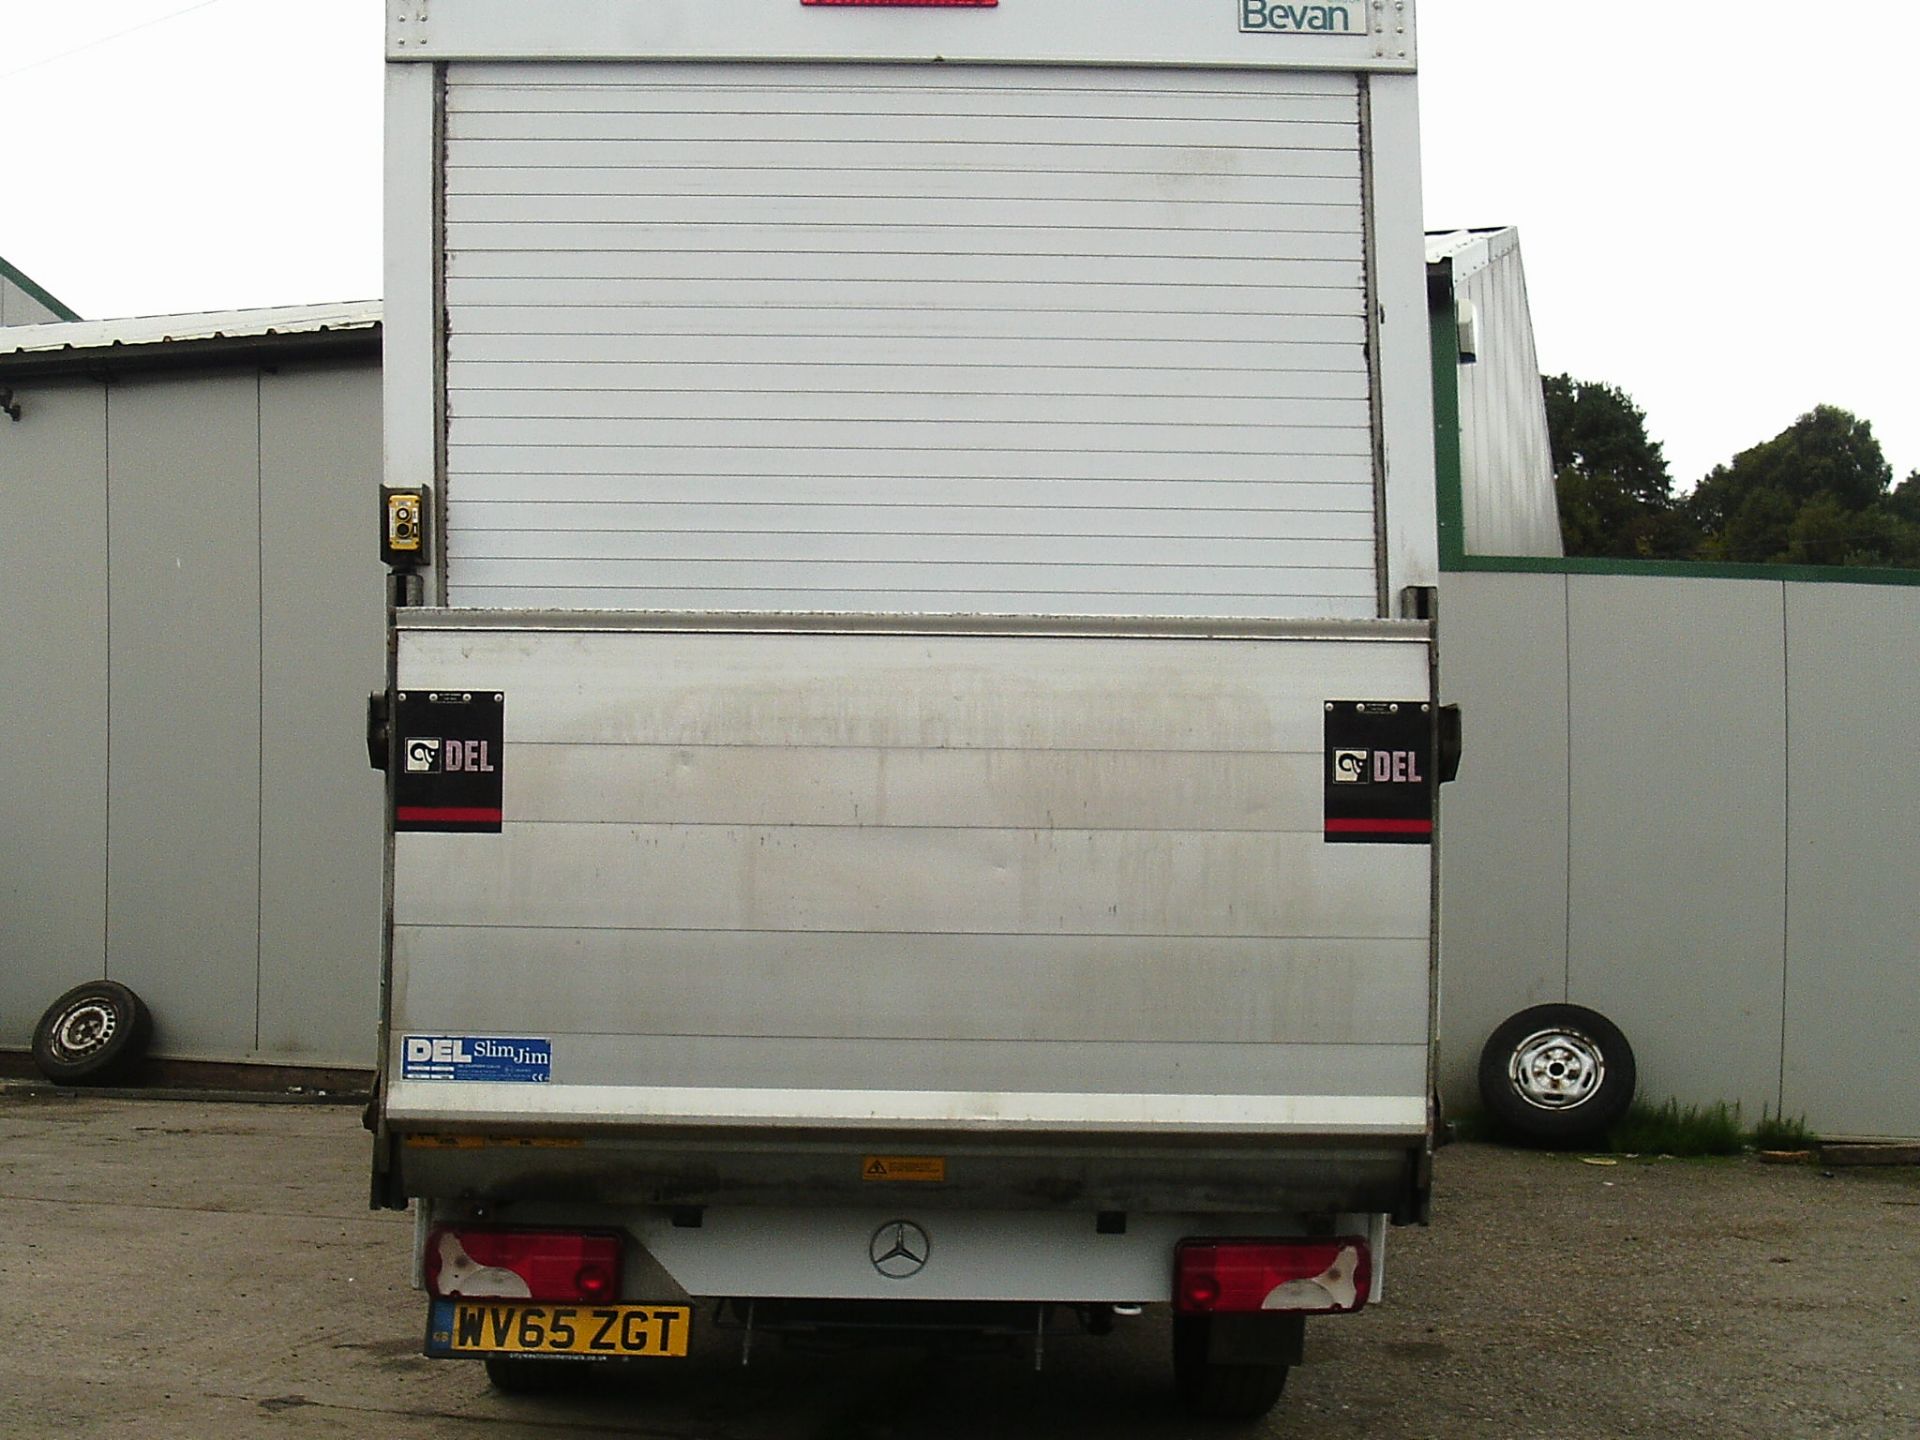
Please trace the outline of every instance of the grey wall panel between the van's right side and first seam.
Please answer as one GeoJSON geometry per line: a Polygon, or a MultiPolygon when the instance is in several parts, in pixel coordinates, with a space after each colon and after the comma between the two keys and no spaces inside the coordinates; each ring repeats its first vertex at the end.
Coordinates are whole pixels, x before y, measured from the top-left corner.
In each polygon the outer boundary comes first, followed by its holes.
{"type": "Polygon", "coordinates": [[[1473,1108],[1494,1027],[1567,998],[1567,578],[1448,574],[1440,634],[1465,718],[1440,793],[1440,1094],[1473,1108]]]}

